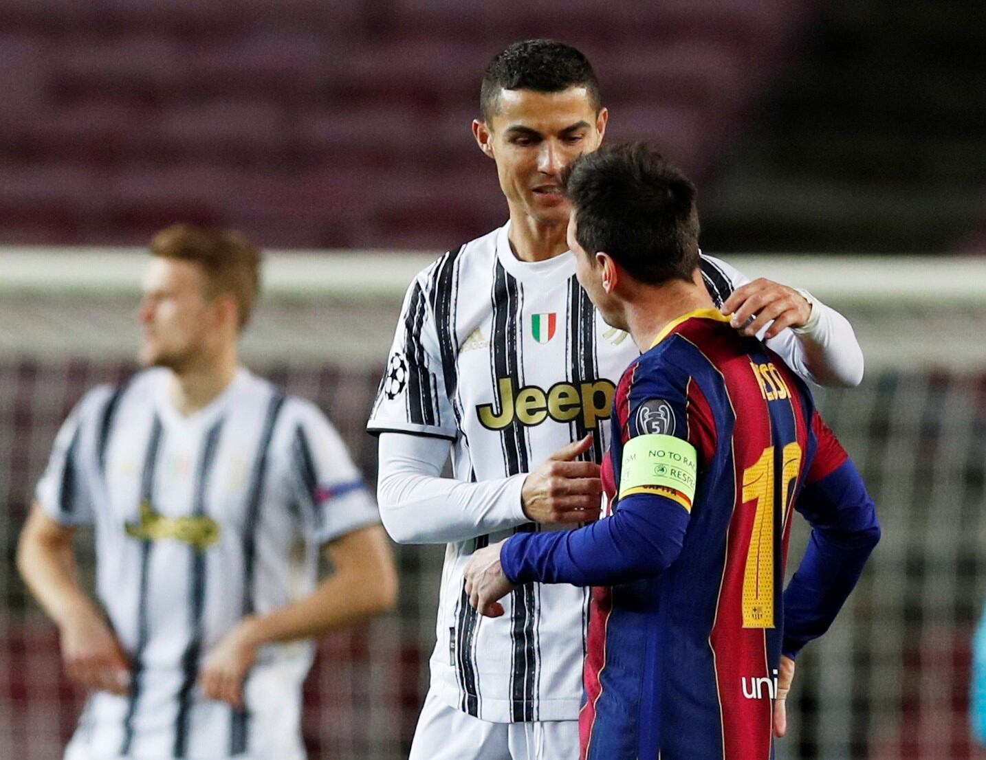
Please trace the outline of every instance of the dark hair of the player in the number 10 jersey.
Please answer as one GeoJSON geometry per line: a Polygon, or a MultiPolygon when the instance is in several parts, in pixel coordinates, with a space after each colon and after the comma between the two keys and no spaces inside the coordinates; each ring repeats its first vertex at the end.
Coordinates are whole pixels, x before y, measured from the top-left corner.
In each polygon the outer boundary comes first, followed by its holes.
{"type": "Polygon", "coordinates": [[[603,146],[562,176],[576,240],[639,282],[691,280],[698,258],[695,186],[646,143],[603,146]]]}

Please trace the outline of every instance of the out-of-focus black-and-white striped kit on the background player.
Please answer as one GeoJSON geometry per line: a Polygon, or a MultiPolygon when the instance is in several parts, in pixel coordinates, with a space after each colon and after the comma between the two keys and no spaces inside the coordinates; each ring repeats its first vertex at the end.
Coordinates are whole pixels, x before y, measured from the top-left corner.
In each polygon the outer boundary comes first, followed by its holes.
{"type": "Polygon", "coordinates": [[[379,521],[317,409],[246,370],[182,417],[171,374],[90,391],[37,486],[44,512],[93,524],[97,591],[133,671],[128,696],[96,692],[73,745],[86,756],[303,757],[310,643],[263,648],[246,710],[206,700],[202,658],[245,615],[310,593],[321,544],[379,521]]]}

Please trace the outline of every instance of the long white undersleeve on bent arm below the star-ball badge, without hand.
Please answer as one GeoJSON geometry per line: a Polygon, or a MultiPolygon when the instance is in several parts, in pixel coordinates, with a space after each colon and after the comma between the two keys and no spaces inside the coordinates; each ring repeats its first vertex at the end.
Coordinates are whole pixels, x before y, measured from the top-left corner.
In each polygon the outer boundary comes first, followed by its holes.
{"type": "Polygon", "coordinates": [[[377,503],[397,543],[451,543],[530,520],[522,489],[527,473],[466,483],[443,478],[452,442],[402,433],[380,437],[377,503]]]}

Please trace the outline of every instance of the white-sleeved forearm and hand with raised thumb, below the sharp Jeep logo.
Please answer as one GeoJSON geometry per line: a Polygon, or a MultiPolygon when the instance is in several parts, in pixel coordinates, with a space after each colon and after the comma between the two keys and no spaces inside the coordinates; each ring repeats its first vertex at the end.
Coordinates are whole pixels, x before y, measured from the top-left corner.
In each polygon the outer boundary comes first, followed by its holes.
{"type": "Polygon", "coordinates": [[[443,478],[450,441],[401,433],[380,437],[377,499],[398,543],[448,543],[526,522],[599,517],[599,465],[575,461],[585,438],[559,449],[531,473],[468,483],[443,478]]]}

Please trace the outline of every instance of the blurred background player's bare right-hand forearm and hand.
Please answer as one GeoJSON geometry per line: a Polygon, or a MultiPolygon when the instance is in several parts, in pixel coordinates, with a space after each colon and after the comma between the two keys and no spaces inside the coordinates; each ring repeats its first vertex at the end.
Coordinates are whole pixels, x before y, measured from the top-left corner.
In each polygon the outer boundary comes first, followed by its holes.
{"type": "Polygon", "coordinates": [[[314,639],[386,612],[397,600],[397,574],[380,525],[367,525],[326,544],[335,572],[304,599],[244,618],[205,657],[203,693],[242,708],[243,685],[266,644],[314,639]]]}

